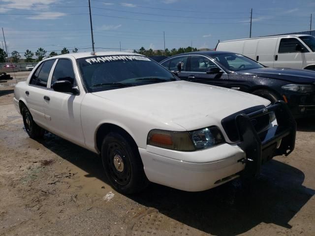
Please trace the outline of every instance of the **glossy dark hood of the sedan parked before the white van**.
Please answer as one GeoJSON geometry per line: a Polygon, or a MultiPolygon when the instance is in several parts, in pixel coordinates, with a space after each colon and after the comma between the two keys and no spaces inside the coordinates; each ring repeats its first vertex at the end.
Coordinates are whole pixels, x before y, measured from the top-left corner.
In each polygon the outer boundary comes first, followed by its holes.
{"type": "Polygon", "coordinates": [[[266,67],[250,70],[240,70],[236,71],[236,73],[240,75],[250,75],[285,80],[292,83],[315,83],[315,71],[312,70],[266,67]]]}

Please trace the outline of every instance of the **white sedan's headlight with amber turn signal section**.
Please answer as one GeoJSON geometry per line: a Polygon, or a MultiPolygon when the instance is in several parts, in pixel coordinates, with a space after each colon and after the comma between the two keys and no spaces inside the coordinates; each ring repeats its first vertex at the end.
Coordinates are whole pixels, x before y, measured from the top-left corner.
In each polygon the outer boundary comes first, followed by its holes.
{"type": "Polygon", "coordinates": [[[191,132],[176,132],[154,129],[148,134],[147,144],[179,151],[193,151],[211,148],[224,142],[216,126],[191,132]]]}

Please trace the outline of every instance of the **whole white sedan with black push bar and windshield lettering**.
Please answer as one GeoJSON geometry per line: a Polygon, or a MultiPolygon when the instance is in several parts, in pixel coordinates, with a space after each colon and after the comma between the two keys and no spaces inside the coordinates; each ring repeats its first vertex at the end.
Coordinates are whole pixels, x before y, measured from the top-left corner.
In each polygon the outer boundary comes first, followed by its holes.
{"type": "Polygon", "coordinates": [[[133,53],[60,55],[17,84],[27,133],[44,130],[99,153],[112,186],[134,193],[150,181],[202,191],[294,149],[283,102],[179,80],[133,53]]]}

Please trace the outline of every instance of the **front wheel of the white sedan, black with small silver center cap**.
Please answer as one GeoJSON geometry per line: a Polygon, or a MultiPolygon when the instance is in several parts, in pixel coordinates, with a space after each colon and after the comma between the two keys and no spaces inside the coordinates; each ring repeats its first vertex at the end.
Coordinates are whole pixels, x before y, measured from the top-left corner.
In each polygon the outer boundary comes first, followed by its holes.
{"type": "Polygon", "coordinates": [[[101,158],[106,176],[120,193],[132,194],[148,186],[138,148],[123,132],[110,132],[103,140],[101,158]]]}

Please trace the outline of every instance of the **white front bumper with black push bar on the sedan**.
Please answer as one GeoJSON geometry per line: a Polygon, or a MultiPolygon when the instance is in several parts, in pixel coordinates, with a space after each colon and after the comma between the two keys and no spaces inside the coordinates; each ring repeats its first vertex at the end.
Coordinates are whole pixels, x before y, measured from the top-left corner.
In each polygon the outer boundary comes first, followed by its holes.
{"type": "Polygon", "coordinates": [[[296,123],[284,102],[236,117],[241,140],[199,151],[183,152],[148,145],[139,148],[152,182],[185,191],[203,191],[239,177],[256,175],[264,161],[288,155],[295,144],[296,123]],[[278,125],[257,134],[251,119],[275,112],[278,125]],[[263,138],[262,138],[263,137],[263,138]]]}

